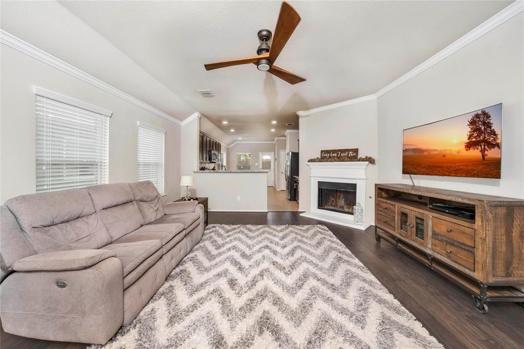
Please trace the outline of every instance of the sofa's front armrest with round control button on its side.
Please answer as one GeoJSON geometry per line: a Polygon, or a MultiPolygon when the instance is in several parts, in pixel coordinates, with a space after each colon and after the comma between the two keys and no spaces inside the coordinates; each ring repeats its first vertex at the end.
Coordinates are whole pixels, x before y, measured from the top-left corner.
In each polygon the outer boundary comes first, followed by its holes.
{"type": "Polygon", "coordinates": [[[115,257],[81,270],[15,271],[0,288],[7,333],[105,344],[124,321],[122,264],[115,257]]]}

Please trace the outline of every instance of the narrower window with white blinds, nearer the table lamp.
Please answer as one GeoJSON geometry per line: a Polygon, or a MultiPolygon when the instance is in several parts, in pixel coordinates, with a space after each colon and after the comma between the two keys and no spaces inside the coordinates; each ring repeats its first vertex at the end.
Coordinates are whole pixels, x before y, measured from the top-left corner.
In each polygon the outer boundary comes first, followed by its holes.
{"type": "Polygon", "coordinates": [[[138,123],[138,180],[151,181],[164,194],[164,138],[166,131],[138,123]]]}

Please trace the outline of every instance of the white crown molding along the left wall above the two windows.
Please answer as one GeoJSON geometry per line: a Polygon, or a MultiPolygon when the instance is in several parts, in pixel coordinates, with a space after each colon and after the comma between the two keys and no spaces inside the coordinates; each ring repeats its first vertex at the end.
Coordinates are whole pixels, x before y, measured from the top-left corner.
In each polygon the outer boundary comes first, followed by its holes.
{"type": "Polygon", "coordinates": [[[61,59],[52,56],[51,54],[47,53],[46,51],[43,51],[35,46],[32,46],[30,43],[22,39],[19,39],[16,36],[9,34],[7,31],[2,30],[2,29],[0,29],[0,43],[3,43],[4,45],[14,48],[15,50],[20,51],[22,53],[25,53],[27,54],[27,56],[35,58],[43,63],[49,64],[49,66],[53,68],[56,68],[64,73],[68,73],[69,75],[71,75],[74,78],[87,82],[105,92],[111,93],[112,95],[115,95],[123,99],[124,101],[132,103],[170,122],[173,122],[178,125],[181,124],[181,122],[177,118],[174,118],[173,116],[168,115],[158,110],[154,106],[151,106],[145,102],[140,101],[139,99],[133,97],[132,95],[129,95],[125,93],[124,91],[115,88],[115,86],[110,85],[106,82],[103,82],[100,79],[93,77],[93,75],[90,75],[84,72],[83,70],[80,70],[76,67],[71,66],[71,64],[66,63],[62,61],[61,59]]]}

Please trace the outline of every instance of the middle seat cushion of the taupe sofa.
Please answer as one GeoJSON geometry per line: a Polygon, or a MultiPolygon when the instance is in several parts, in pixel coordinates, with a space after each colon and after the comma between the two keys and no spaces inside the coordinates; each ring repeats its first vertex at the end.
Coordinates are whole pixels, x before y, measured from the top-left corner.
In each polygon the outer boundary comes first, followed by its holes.
{"type": "Polygon", "coordinates": [[[182,224],[149,224],[116,239],[113,244],[137,242],[144,240],[159,240],[162,252],[166,253],[184,237],[182,224]]]}

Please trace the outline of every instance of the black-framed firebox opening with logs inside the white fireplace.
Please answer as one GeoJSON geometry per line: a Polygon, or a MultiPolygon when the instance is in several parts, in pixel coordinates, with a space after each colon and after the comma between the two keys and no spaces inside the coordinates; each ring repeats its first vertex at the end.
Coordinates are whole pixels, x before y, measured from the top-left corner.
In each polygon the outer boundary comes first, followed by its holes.
{"type": "Polygon", "coordinates": [[[318,182],[318,208],[344,214],[353,214],[357,199],[356,183],[318,182]]]}

